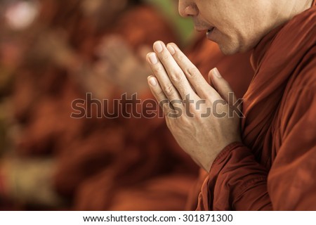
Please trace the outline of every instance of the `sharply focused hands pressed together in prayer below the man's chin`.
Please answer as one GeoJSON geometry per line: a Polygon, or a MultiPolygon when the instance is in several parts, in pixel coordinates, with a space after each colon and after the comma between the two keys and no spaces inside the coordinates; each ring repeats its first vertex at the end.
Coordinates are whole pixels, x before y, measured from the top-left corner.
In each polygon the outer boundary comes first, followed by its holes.
{"type": "Polygon", "coordinates": [[[176,44],[165,46],[157,41],[154,53],[147,54],[147,62],[154,73],[148,77],[150,89],[162,105],[171,133],[209,172],[223,148],[241,141],[240,103],[236,106],[232,89],[216,68],[209,73],[213,89],[176,44]]]}

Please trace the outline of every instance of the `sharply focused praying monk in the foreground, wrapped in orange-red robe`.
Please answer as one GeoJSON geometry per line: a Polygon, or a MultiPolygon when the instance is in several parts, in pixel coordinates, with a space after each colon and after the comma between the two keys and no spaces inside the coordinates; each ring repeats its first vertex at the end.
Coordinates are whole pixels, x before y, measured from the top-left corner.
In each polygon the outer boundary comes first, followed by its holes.
{"type": "Polygon", "coordinates": [[[223,53],[252,49],[242,108],[216,68],[213,88],[176,44],[157,41],[147,55],[152,93],[169,101],[169,129],[208,173],[197,210],[316,210],[315,5],[179,1],[180,14],[223,53]]]}

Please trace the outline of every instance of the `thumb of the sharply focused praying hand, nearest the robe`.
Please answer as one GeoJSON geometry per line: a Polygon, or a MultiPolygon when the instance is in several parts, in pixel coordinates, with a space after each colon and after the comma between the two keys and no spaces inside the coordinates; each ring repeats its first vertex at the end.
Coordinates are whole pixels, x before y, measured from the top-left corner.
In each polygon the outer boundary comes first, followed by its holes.
{"type": "Polygon", "coordinates": [[[230,84],[220,75],[220,72],[217,68],[213,68],[209,72],[209,77],[213,82],[215,89],[218,91],[218,94],[230,105],[231,107],[237,107],[239,111],[242,110],[242,104],[235,96],[234,91],[232,90],[230,84]]]}

